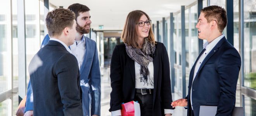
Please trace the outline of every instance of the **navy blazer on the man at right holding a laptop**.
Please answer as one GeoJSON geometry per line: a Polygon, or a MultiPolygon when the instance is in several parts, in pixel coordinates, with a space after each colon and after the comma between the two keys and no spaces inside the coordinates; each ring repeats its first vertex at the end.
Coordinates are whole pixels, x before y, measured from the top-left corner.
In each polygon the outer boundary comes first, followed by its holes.
{"type": "Polygon", "coordinates": [[[223,37],[202,61],[192,84],[195,65],[204,51],[205,49],[190,71],[187,116],[193,116],[190,103],[191,85],[194,116],[199,116],[200,106],[218,106],[216,116],[230,116],[235,106],[240,55],[223,37]]]}

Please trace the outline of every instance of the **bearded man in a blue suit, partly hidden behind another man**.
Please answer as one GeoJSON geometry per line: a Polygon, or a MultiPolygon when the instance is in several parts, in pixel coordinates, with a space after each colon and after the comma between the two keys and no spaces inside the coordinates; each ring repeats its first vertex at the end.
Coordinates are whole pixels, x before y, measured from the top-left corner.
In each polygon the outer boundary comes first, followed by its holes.
{"type": "MultiPolygon", "coordinates": [[[[95,41],[87,38],[83,34],[90,32],[90,9],[79,3],[74,3],[68,7],[76,14],[76,38],[69,48],[78,61],[80,68],[80,85],[82,90],[82,104],[84,116],[100,115],[100,67],[99,57],[95,41]]],[[[49,36],[45,36],[42,47],[49,41],[49,36]]],[[[28,86],[25,112],[26,116],[33,114],[33,99],[30,96],[31,87],[28,86]],[[31,107],[32,106],[32,107],[31,107]]]]}

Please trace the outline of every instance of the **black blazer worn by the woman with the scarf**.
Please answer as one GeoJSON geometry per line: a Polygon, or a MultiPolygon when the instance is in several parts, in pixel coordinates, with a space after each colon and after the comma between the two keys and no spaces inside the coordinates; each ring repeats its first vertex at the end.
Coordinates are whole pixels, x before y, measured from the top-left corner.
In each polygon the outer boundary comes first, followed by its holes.
{"type": "MultiPolygon", "coordinates": [[[[171,81],[169,58],[163,43],[156,42],[153,56],[154,65],[154,94],[153,116],[163,116],[164,109],[171,107],[171,81]]],[[[121,109],[122,102],[133,101],[135,97],[135,65],[134,60],[127,55],[125,44],[114,48],[110,64],[112,92],[110,94],[110,109],[121,109]]]]}

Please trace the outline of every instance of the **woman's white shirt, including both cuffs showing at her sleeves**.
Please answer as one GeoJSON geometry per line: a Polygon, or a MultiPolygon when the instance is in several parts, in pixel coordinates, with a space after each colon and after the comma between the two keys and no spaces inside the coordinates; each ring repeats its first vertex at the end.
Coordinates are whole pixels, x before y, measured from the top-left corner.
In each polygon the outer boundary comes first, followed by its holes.
{"type": "MultiPolygon", "coordinates": [[[[147,88],[147,89],[154,89],[154,65],[153,62],[150,62],[148,65],[149,69],[149,77],[148,77],[148,85],[144,84],[144,82],[140,82],[140,64],[134,61],[135,65],[135,88],[147,88]],[[150,82],[150,80],[152,82],[150,82]]],[[[173,109],[164,109],[164,114],[173,114],[173,109]]],[[[121,116],[121,110],[116,110],[111,112],[111,116],[121,116]]]]}

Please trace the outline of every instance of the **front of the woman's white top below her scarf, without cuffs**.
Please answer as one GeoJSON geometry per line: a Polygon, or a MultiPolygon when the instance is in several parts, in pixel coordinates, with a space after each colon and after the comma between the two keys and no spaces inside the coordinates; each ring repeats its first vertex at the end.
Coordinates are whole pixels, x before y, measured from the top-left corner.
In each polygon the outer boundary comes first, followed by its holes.
{"type": "Polygon", "coordinates": [[[148,80],[143,82],[143,77],[142,77],[142,82],[141,82],[141,76],[140,76],[140,64],[138,64],[136,61],[134,61],[135,65],[135,88],[136,89],[141,89],[141,88],[147,88],[147,89],[154,89],[154,66],[153,62],[150,62],[147,68],[149,69],[149,76],[148,80]]]}

